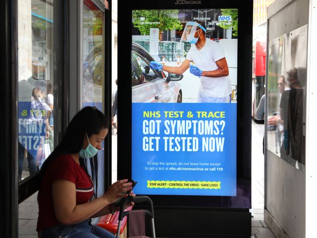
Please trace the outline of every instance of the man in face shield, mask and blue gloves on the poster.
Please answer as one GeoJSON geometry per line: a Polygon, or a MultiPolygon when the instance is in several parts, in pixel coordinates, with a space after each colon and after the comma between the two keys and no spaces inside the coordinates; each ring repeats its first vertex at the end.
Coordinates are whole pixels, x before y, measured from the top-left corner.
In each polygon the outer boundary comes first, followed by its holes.
{"type": "Polygon", "coordinates": [[[200,78],[198,102],[230,102],[231,83],[225,53],[219,43],[206,38],[205,24],[187,22],[182,41],[191,43],[191,48],[181,66],[151,61],[150,68],[174,74],[183,74],[190,68],[190,73],[200,78]]]}

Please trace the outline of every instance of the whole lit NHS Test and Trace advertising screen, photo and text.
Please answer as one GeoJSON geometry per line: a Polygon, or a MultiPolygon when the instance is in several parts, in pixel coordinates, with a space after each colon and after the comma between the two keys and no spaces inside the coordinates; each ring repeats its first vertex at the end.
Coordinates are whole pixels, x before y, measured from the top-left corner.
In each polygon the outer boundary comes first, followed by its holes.
{"type": "Polygon", "coordinates": [[[133,191],[236,196],[238,10],[131,20],[133,191]]]}

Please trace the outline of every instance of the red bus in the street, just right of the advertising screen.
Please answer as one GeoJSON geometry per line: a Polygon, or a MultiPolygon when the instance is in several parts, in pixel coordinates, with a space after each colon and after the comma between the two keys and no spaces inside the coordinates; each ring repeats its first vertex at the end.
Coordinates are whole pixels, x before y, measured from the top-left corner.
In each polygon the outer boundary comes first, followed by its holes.
{"type": "Polygon", "coordinates": [[[264,123],[264,109],[262,118],[256,117],[256,109],[261,97],[265,94],[266,72],[266,36],[255,37],[252,56],[252,118],[255,122],[264,123]]]}

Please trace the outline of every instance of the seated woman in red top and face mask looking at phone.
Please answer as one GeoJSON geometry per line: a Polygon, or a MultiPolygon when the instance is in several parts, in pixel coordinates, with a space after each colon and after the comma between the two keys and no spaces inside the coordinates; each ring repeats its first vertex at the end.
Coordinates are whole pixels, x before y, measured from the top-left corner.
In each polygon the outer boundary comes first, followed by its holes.
{"type": "Polygon", "coordinates": [[[131,183],[127,179],[117,181],[96,198],[85,166],[85,160],[102,149],[108,127],[106,116],[96,107],[83,108],[72,118],[61,143],[44,162],[38,193],[39,237],[114,237],[89,219],[117,211],[119,208],[113,203],[128,196],[125,192],[132,189],[131,183]]]}

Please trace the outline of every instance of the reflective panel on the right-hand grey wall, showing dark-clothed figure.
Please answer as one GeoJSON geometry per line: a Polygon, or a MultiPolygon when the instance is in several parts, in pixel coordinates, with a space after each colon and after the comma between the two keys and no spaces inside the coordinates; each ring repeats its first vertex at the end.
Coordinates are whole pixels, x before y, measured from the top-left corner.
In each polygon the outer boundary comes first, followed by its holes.
{"type": "Polygon", "coordinates": [[[268,149],[304,165],[307,26],[269,44],[268,149]]]}

